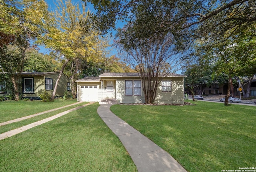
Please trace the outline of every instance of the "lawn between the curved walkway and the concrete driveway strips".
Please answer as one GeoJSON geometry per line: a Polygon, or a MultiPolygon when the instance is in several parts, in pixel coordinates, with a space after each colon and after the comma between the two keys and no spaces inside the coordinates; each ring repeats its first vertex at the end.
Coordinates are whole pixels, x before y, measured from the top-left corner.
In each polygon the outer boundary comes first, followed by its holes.
{"type": "Polygon", "coordinates": [[[98,116],[98,106],[94,103],[0,140],[0,171],[137,171],[98,116]]]}

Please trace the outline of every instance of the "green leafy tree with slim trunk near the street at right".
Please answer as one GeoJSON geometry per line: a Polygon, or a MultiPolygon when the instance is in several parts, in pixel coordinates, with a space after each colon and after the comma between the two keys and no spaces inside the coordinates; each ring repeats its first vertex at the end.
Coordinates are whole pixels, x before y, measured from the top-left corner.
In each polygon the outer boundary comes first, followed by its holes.
{"type": "MultiPolygon", "coordinates": [[[[232,79],[235,76],[243,75],[251,66],[252,73],[255,72],[255,56],[248,48],[248,43],[233,41],[225,42],[214,46],[208,57],[214,62],[214,69],[217,73],[226,73],[228,75],[228,93],[225,99],[225,105],[228,105],[228,97],[230,97],[230,89],[232,87],[232,79]],[[244,46],[246,45],[246,46],[244,46]]],[[[251,47],[252,48],[252,47],[251,47]]]]}

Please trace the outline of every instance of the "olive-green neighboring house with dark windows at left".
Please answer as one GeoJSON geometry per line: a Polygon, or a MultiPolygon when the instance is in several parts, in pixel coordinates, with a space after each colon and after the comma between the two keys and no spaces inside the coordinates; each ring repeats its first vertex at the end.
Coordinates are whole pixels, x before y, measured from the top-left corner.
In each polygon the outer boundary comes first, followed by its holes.
{"type": "MultiPolygon", "coordinates": [[[[52,95],[59,72],[22,72],[19,85],[22,98],[40,99],[45,90],[52,95]]],[[[71,79],[62,74],[55,97],[61,97],[70,90],[71,79]]]]}

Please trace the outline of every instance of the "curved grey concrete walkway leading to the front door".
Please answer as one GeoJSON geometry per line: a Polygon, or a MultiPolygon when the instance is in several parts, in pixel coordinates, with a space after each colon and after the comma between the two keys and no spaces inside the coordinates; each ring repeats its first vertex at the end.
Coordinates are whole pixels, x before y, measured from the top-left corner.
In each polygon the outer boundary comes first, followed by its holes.
{"type": "Polygon", "coordinates": [[[138,172],[187,172],[170,154],[110,111],[111,104],[100,105],[98,114],[118,136],[138,172]]]}

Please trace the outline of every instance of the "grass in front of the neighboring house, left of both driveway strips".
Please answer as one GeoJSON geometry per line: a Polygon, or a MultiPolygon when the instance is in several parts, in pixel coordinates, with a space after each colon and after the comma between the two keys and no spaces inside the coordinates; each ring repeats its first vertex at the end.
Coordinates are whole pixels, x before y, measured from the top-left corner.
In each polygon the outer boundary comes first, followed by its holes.
{"type": "Polygon", "coordinates": [[[0,123],[33,115],[50,109],[70,105],[76,103],[76,100],[55,99],[54,102],[42,101],[0,101],[0,123]]]}

